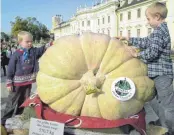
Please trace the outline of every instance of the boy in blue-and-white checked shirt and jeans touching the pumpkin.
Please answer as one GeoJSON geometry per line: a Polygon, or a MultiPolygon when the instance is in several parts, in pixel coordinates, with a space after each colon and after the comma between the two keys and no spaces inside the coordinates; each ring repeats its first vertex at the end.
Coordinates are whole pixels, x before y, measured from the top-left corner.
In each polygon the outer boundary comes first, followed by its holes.
{"type": "Polygon", "coordinates": [[[173,67],[170,57],[171,39],[165,22],[166,17],[166,6],[156,2],[146,10],[148,23],[154,28],[153,33],[145,38],[120,37],[120,39],[126,39],[140,49],[140,52],[137,52],[134,47],[128,47],[132,56],[147,64],[148,76],[154,80],[157,92],[150,104],[158,114],[160,124],[169,128],[169,134],[172,134],[171,132],[174,131],[173,67]]]}

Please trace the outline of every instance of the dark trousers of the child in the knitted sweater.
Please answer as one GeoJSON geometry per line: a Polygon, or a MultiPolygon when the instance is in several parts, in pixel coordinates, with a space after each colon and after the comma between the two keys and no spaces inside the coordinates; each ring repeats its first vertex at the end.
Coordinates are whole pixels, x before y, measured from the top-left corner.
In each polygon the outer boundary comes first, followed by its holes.
{"type": "Polygon", "coordinates": [[[30,96],[31,87],[31,84],[26,86],[14,86],[13,91],[9,93],[7,98],[4,115],[1,117],[2,124],[5,124],[5,121],[13,115],[23,112],[23,108],[19,107],[30,96]]]}

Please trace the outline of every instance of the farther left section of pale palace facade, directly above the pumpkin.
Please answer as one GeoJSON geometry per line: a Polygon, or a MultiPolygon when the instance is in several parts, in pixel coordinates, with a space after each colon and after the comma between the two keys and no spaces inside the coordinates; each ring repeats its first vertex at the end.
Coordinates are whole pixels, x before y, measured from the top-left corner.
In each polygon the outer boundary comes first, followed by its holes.
{"type": "MultiPolygon", "coordinates": [[[[109,0],[93,7],[78,9],[76,15],[66,22],[68,24],[67,27],[64,27],[64,24],[61,23],[61,25],[58,24],[55,27],[56,23],[53,21],[52,32],[55,33],[55,38],[65,35],[82,34],[84,31],[104,33],[114,37],[117,34],[115,27],[117,25],[117,16],[115,10],[118,4],[118,0],[109,0]],[[108,16],[110,19],[108,19],[108,16]],[[90,21],[90,25],[88,25],[88,21],[90,21]]],[[[55,17],[52,20],[56,20],[55,17]]],[[[57,18],[57,20],[60,19],[57,18]]]]}

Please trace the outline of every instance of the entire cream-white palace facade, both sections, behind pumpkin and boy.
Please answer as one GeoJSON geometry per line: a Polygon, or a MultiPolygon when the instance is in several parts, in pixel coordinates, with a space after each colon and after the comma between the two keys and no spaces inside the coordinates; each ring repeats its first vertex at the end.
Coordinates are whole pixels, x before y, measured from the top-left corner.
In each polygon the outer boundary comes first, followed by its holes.
{"type": "MultiPolygon", "coordinates": [[[[125,0],[121,0],[123,3],[124,1],[125,0]]],[[[134,0],[130,2],[132,1],[134,0]]],[[[145,11],[154,0],[140,1],[142,2],[139,4],[118,8],[118,0],[109,0],[93,7],[78,9],[76,15],[66,23],[60,23],[61,25],[58,24],[56,27],[55,23],[53,23],[52,32],[55,33],[56,38],[65,35],[82,34],[84,31],[104,33],[111,37],[119,36],[121,33],[123,36],[127,36],[130,33],[130,36],[145,37],[153,30],[147,24],[145,11]],[[138,9],[141,10],[140,17],[137,17],[138,9]],[[130,20],[128,20],[128,12],[131,12],[130,20]],[[122,21],[120,21],[120,14],[123,15],[122,21]],[[110,16],[110,22],[108,22],[108,16],[110,16]],[[103,18],[105,21],[104,24],[102,22],[103,18]],[[100,24],[98,24],[98,19],[100,20],[100,24]],[[87,24],[88,21],[90,21],[90,25],[87,24]],[[82,25],[83,22],[84,26],[82,25]]],[[[168,17],[166,21],[171,35],[172,48],[174,48],[174,10],[172,7],[174,5],[174,0],[159,1],[165,2],[168,8],[168,17]]],[[[53,20],[55,20],[55,18],[53,20]]]]}

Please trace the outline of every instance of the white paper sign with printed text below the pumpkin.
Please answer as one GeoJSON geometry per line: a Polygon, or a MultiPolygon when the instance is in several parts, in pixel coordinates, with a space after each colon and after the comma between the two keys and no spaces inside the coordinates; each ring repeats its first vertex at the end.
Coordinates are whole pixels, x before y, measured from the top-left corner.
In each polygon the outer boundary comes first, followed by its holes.
{"type": "Polygon", "coordinates": [[[63,123],[31,118],[29,135],[63,135],[64,126],[63,123]]]}

